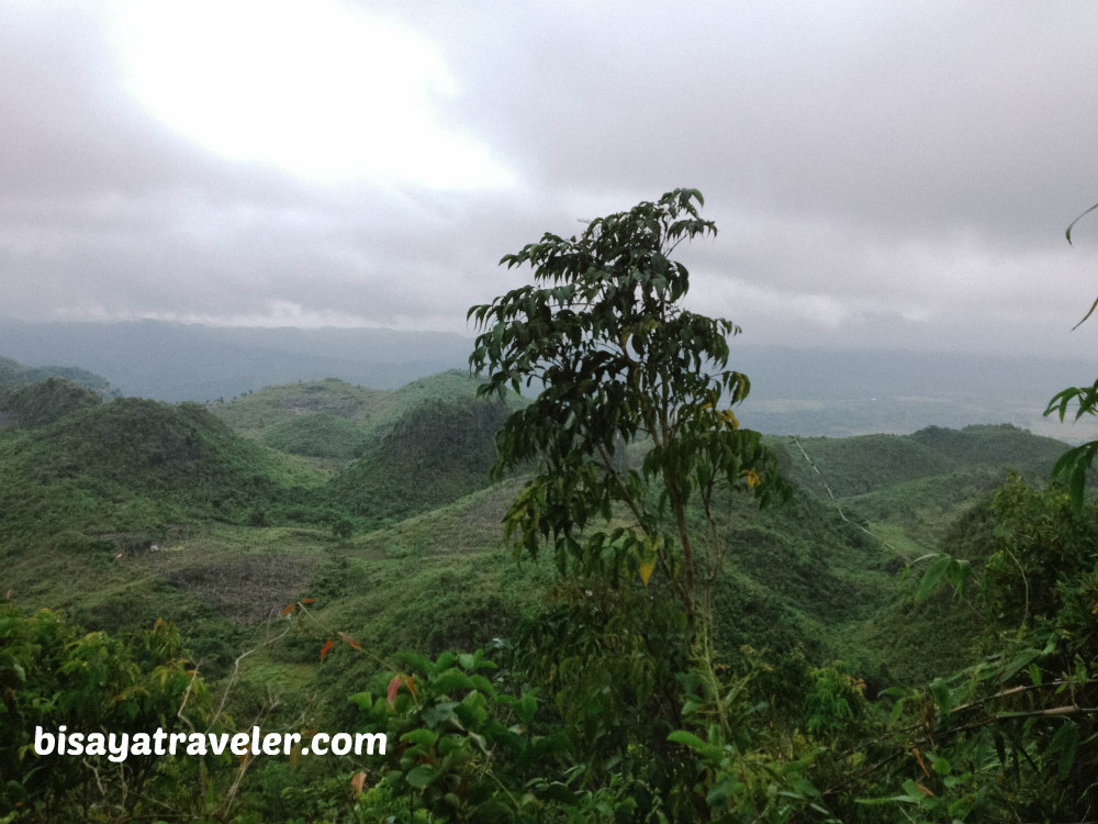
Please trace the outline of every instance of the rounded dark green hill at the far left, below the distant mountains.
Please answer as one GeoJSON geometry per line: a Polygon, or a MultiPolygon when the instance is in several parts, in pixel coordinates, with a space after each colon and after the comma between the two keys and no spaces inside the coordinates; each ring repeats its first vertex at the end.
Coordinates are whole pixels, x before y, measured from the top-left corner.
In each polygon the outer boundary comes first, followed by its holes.
{"type": "MultiPolygon", "coordinates": [[[[239,521],[315,472],[251,444],[197,404],[135,398],[85,407],[0,442],[0,542],[239,521]]],[[[7,547],[7,548],[10,548],[7,547]]]]}

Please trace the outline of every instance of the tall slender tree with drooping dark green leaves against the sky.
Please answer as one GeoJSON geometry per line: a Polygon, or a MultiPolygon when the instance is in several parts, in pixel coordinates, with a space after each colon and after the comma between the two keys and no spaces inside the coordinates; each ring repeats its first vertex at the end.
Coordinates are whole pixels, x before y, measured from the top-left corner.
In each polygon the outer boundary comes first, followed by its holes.
{"type": "Polygon", "coordinates": [[[482,330],[469,359],[486,372],[482,396],[540,387],[496,442],[497,472],[537,466],[505,516],[516,554],[536,557],[547,542],[562,574],[637,576],[676,597],[693,632],[708,625],[728,493],[766,502],[786,490],[729,408],[750,389],[727,368],[740,329],[681,304],[690,274],[670,255],[716,234],[702,205],[701,192],[677,189],[579,237],[547,233],[501,260],[529,264],[534,285],[467,315],[482,330]],[[604,528],[591,528],[596,519],[604,528]]]}

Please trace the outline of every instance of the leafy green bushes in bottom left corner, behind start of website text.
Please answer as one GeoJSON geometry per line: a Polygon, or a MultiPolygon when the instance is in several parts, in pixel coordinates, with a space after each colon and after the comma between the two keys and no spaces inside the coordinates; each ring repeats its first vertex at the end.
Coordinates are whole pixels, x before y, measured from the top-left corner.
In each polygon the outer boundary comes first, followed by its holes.
{"type": "Polygon", "coordinates": [[[34,751],[38,726],[69,737],[204,728],[210,697],[173,625],[157,622],[125,643],[103,632],[81,636],[48,610],[26,616],[0,603],[0,812],[14,811],[15,821],[128,820],[166,800],[189,805],[197,759],[180,769],[155,754],[113,762],[34,751]]]}

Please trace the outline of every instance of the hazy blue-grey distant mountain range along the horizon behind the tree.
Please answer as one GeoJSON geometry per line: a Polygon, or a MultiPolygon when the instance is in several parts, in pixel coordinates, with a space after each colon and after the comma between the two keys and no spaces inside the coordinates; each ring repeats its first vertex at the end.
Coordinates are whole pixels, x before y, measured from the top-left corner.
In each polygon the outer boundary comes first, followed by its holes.
{"type": "MultiPolygon", "coordinates": [[[[0,321],[0,354],[9,358],[77,364],[124,394],[171,402],[227,401],[324,378],[395,389],[446,369],[466,371],[471,349],[472,338],[440,332],[0,321]]],[[[795,349],[738,338],[730,366],[752,381],[740,419],[768,433],[844,437],[1011,423],[1069,442],[1098,437],[1096,422],[1072,426],[1042,416],[1061,389],[1094,381],[1085,360],[795,349]]],[[[0,364],[0,380],[3,374],[0,364]]]]}

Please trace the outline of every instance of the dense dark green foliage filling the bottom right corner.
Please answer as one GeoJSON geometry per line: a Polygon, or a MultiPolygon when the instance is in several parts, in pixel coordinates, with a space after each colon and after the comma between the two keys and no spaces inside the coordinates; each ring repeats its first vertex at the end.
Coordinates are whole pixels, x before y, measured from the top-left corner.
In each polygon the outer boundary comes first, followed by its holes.
{"type": "MultiPolygon", "coordinates": [[[[888,744],[916,756],[905,792],[866,800],[927,820],[1088,816],[1098,768],[1098,506],[1012,477],[965,519],[986,656],[928,690],[892,690],[888,744]]],[[[942,556],[950,558],[950,556],[942,556]]]]}

